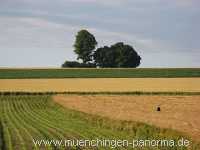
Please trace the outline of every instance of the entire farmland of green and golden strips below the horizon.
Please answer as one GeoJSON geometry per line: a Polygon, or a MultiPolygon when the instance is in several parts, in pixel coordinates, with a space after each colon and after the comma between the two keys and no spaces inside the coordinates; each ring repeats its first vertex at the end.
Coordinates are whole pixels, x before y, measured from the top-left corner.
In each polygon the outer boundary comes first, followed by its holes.
{"type": "Polygon", "coordinates": [[[65,140],[181,138],[190,147],[134,149],[199,150],[199,100],[200,69],[0,69],[0,150],[104,150],[113,143],[66,147],[65,140]]]}

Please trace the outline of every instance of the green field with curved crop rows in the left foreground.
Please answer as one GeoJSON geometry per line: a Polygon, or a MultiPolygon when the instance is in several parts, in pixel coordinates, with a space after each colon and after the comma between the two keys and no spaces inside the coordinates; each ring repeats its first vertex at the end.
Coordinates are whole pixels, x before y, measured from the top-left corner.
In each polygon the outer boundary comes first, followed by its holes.
{"type": "MultiPolygon", "coordinates": [[[[160,129],[143,123],[114,121],[64,109],[47,95],[0,96],[0,149],[58,149],[34,146],[33,139],[174,139],[183,135],[170,129],[160,129]]],[[[194,142],[191,149],[198,150],[194,142]]],[[[64,149],[64,147],[59,147],[64,149]]],[[[73,149],[82,149],[74,147],[73,149]]],[[[87,148],[86,148],[87,149],[87,148]]],[[[99,149],[105,149],[99,147],[99,149]]],[[[110,148],[109,148],[110,149],[110,148]]],[[[132,149],[121,147],[119,149],[132,149]]],[[[154,150],[155,147],[144,149],[154,150]]],[[[161,149],[161,148],[158,148],[161,149]]],[[[162,147],[163,150],[183,150],[185,147],[162,147]]]]}

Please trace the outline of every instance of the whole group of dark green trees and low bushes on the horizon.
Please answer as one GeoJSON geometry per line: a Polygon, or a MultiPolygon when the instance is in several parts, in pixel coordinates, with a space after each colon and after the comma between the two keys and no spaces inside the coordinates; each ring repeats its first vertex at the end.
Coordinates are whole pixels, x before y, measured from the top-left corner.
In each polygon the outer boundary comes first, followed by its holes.
{"type": "Polygon", "coordinates": [[[87,30],[81,30],[76,35],[74,52],[77,61],[66,61],[62,67],[85,67],[85,68],[136,68],[140,65],[141,57],[130,45],[118,42],[110,47],[104,46],[95,50],[97,41],[87,30]]]}

